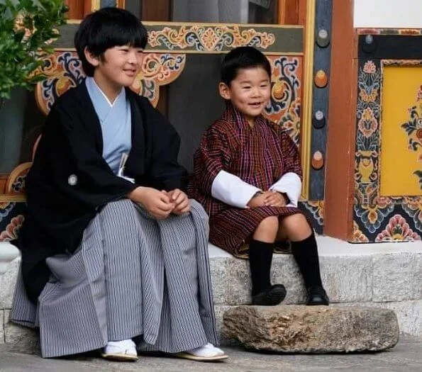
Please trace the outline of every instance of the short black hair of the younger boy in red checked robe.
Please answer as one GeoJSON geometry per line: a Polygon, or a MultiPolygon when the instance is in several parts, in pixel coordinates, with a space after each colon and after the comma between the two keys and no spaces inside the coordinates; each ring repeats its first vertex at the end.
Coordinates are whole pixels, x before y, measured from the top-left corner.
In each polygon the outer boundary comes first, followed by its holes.
{"type": "Polygon", "coordinates": [[[236,47],[228,52],[221,64],[221,81],[230,85],[239,73],[240,69],[262,67],[271,79],[271,65],[267,57],[255,47],[236,47]]]}

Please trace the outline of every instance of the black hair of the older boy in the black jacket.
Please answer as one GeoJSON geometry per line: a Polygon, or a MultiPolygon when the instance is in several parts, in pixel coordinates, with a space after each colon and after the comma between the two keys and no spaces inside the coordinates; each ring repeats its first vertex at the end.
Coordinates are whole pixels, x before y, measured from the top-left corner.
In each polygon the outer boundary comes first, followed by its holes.
{"type": "Polygon", "coordinates": [[[147,41],[147,30],[138,18],[118,8],[103,8],[89,14],[74,35],[74,47],[89,77],[94,75],[95,68],[85,58],[85,47],[96,57],[101,57],[107,49],[121,45],[144,49],[147,41]]]}

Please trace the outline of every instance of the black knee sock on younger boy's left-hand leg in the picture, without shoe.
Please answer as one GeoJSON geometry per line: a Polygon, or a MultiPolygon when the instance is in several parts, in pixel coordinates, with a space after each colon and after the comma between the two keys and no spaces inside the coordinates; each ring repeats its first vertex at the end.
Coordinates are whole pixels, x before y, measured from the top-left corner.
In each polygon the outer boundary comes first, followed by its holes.
{"type": "Polygon", "coordinates": [[[274,243],[251,240],[249,243],[249,265],[252,278],[252,295],[261,293],[271,286],[270,271],[274,243]]]}

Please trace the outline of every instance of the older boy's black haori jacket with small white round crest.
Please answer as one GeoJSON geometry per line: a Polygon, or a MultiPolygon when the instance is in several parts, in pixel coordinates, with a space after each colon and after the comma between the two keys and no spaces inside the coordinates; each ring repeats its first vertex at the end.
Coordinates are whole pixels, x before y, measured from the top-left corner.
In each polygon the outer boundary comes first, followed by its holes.
{"type": "Polygon", "coordinates": [[[28,297],[37,302],[50,276],[45,259],[74,252],[103,205],[136,186],[185,189],[186,171],[177,163],[180,139],[147,98],[126,89],[131,103],[132,148],[125,176],[115,176],[102,157],[101,125],[84,83],[51,108],[33,166],[26,178],[28,212],[18,247],[28,297]]]}

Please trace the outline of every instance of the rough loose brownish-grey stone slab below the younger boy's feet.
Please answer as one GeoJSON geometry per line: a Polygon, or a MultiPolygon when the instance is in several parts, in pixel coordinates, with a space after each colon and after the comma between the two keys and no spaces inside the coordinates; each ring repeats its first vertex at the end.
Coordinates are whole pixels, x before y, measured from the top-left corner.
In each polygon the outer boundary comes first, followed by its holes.
{"type": "Polygon", "coordinates": [[[238,306],[224,313],[223,322],[224,337],[281,353],[382,351],[399,341],[396,314],[387,309],[238,306]]]}

